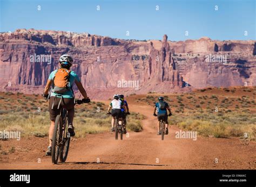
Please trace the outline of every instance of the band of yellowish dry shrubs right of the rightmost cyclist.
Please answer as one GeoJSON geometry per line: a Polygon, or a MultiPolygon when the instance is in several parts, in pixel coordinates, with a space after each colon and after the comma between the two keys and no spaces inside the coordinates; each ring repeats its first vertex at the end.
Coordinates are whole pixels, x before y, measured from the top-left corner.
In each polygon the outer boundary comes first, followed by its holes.
{"type": "MultiPolygon", "coordinates": [[[[227,110],[228,111],[228,110],[227,110]]],[[[186,115],[174,115],[170,119],[170,124],[177,124],[178,127],[189,131],[197,131],[203,136],[212,135],[216,138],[230,136],[242,136],[245,132],[252,140],[255,140],[256,116],[246,112],[228,112],[222,114],[215,113],[186,113],[186,115]],[[221,114],[221,115],[218,115],[221,114]],[[179,116],[179,117],[177,117],[179,116]],[[178,119],[177,119],[178,118],[178,119]],[[173,121],[172,121],[173,120],[173,121]]]]}

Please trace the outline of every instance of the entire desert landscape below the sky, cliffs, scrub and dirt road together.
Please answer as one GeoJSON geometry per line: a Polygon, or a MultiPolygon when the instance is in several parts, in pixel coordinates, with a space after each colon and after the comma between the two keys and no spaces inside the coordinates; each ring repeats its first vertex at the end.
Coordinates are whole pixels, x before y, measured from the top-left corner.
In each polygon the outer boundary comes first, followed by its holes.
{"type": "MultiPolygon", "coordinates": [[[[253,40],[124,40],[63,31],[0,33],[1,169],[255,169],[256,43],[253,40]],[[90,104],[76,106],[66,163],[45,156],[48,103],[42,93],[58,57],[72,65],[90,104]],[[125,95],[129,134],[114,140],[106,114],[125,95]],[[170,133],[161,141],[153,106],[169,103],[170,133]],[[181,131],[196,139],[177,138],[181,131]]],[[[74,88],[76,98],[81,96],[74,88]]]]}

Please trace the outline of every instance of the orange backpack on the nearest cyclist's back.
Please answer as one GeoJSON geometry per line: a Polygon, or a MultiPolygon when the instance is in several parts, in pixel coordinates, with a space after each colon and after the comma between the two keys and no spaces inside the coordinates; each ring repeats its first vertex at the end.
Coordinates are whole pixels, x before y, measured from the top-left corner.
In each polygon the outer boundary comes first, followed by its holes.
{"type": "Polygon", "coordinates": [[[57,70],[53,77],[53,92],[65,93],[70,90],[70,77],[71,70],[60,68],[57,70]]]}

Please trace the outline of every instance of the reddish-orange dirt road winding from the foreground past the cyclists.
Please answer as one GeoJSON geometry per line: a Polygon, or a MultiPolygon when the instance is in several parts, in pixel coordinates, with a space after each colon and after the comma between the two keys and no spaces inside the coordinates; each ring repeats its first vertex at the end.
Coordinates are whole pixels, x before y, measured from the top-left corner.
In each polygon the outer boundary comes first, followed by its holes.
{"type": "MultiPolygon", "coordinates": [[[[242,145],[237,138],[176,139],[176,126],[169,128],[164,141],[156,135],[152,107],[130,105],[143,113],[144,131],[114,140],[113,133],[89,134],[73,139],[65,163],[52,165],[44,156],[47,138],[2,141],[2,148],[16,152],[2,155],[0,169],[256,169],[256,143],[242,145]]],[[[129,121],[128,121],[129,123],[129,121]]]]}

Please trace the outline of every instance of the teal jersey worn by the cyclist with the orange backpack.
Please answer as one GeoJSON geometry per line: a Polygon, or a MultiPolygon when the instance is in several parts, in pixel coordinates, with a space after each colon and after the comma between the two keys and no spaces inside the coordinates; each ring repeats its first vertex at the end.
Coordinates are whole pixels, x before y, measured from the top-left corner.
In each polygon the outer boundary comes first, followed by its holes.
{"type": "MultiPolygon", "coordinates": [[[[58,69],[52,71],[52,73],[50,74],[48,80],[53,81],[53,77],[55,77],[55,74],[57,72],[58,69]]],[[[69,77],[69,82],[70,82],[70,88],[72,87],[73,83],[76,81],[80,82],[79,77],[77,76],[77,74],[74,71],[70,72],[70,77],[69,77]]],[[[65,93],[55,93],[55,92],[51,92],[50,96],[57,96],[57,97],[63,97],[63,98],[74,98],[75,96],[73,96],[73,92],[71,89],[69,89],[69,91],[65,92],[65,93]]]]}

